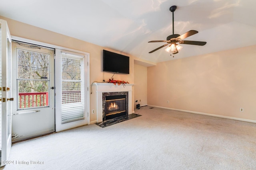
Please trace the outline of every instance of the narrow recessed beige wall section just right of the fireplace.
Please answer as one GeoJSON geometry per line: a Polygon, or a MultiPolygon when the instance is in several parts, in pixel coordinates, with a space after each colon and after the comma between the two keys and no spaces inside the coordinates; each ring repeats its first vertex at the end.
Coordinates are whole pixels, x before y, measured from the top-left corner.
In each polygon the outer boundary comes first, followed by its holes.
{"type": "MultiPolygon", "coordinates": [[[[147,105],[147,67],[134,64],[134,101],[140,106],[147,105]],[[140,101],[141,100],[141,101],[140,101]]],[[[136,108],[136,107],[135,107],[136,108]]]]}

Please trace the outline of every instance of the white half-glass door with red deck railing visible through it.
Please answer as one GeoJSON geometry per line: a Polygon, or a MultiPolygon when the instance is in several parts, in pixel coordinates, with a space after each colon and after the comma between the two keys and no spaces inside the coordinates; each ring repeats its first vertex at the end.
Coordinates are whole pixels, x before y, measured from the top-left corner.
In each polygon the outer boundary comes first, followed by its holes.
{"type": "Polygon", "coordinates": [[[54,132],[54,49],[13,41],[12,53],[12,141],[54,132]]]}

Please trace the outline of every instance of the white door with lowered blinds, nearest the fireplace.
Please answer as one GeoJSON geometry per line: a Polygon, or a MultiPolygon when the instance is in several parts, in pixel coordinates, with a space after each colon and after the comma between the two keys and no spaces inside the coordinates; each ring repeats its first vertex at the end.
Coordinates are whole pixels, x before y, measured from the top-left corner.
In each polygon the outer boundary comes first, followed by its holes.
{"type": "Polygon", "coordinates": [[[89,124],[88,56],[56,49],[56,132],[89,124]]]}

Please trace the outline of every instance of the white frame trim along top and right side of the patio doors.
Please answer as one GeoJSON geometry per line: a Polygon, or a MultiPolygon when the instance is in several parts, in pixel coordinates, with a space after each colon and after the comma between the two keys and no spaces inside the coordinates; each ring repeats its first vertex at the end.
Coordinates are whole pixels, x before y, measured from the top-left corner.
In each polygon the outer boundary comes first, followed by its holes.
{"type": "MultiPolygon", "coordinates": [[[[74,49],[70,49],[70,48],[66,48],[66,47],[61,47],[61,46],[58,46],[58,45],[52,45],[52,44],[48,44],[48,43],[42,43],[42,42],[39,42],[39,41],[34,41],[34,40],[30,40],[30,39],[25,39],[25,38],[22,38],[22,37],[17,37],[17,36],[12,36],[12,40],[14,41],[20,41],[20,42],[24,42],[24,43],[30,43],[30,44],[34,44],[34,45],[39,45],[39,46],[43,46],[43,47],[49,47],[49,48],[52,48],[52,49],[60,49],[60,50],[64,50],[64,51],[70,51],[71,53],[80,53],[80,54],[83,54],[86,56],[87,58],[87,64],[84,65],[84,74],[86,79],[84,80],[85,81],[85,84],[84,86],[87,87],[87,91],[86,89],[84,90],[84,95],[85,95],[85,110],[84,110],[84,113],[86,115],[88,115],[87,117],[87,124],[89,125],[90,124],[90,53],[87,53],[87,52],[84,52],[84,51],[78,51],[78,50],[74,50],[74,49]]],[[[55,61],[55,56],[54,56],[54,61],[55,61]]],[[[56,72],[55,71],[55,74],[54,74],[54,80],[55,80],[55,84],[56,84],[56,74],[61,74],[61,72],[56,72]]],[[[55,94],[56,95],[56,94],[55,94]]],[[[56,96],[55,96],[56,98],[56,96]]],[[[55,107],[55,117],[56,117],[56,107],[55,107]]],[[[80,125],[81,126],[81,125],[80,125]]],[[[55,127],[55,131],[56,131],[56,127],[55,127]]]]}

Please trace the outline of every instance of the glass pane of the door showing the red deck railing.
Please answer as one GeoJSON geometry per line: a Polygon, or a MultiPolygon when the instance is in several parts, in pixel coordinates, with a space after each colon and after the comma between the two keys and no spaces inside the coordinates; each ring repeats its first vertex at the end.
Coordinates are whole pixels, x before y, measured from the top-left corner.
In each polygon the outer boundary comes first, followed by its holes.
{"type": "Polygon", "coordinates": [[[49,106],[49,53],[17,49],[18,109],[49,106]]]}

